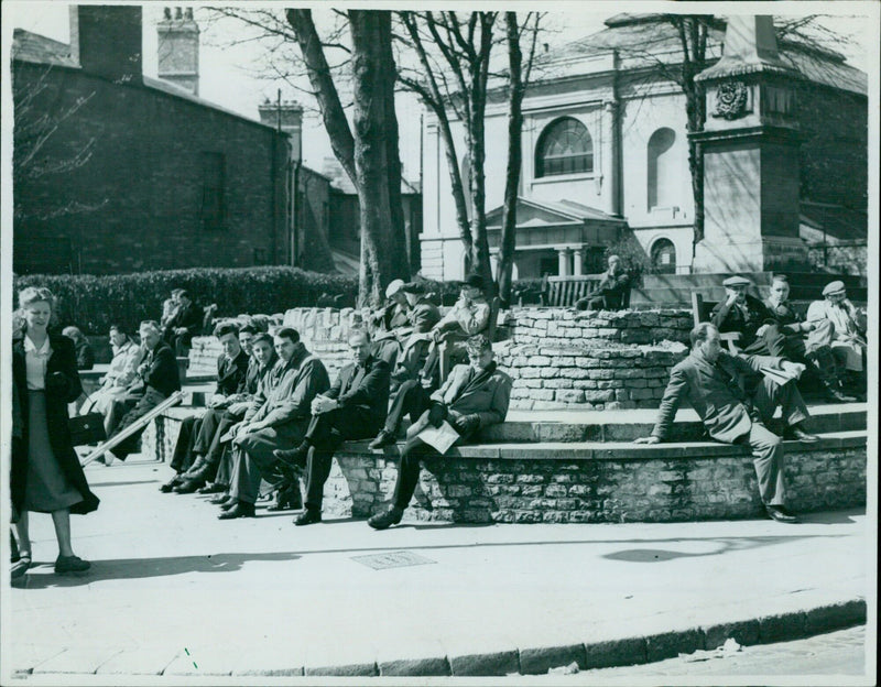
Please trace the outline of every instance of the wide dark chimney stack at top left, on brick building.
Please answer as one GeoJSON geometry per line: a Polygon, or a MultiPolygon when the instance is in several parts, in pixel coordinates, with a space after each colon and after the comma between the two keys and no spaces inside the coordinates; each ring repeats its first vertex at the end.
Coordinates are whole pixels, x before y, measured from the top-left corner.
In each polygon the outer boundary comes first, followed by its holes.
{"type": "Polygon", "coordinates": [[[142,21],[139,6],[70,6],[70,56],[84,72],[140,83],[142,21]]]}

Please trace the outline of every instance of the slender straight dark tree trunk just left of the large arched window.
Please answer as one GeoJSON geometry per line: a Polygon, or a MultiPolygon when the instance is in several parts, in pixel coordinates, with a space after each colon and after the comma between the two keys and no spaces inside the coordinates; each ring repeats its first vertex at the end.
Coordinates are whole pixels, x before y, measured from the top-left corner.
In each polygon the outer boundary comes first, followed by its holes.
{"type": "Polygon", "coordinates": [[[511,286],[516,243],[516,197],[520,186],[520,167],[523,164],[523,52],[520,48],[520,31],[516,12],[505,12],[508,34],[508,168],[504,178],[504,206],[502,207],[502,232],[499,240],[497,281],[502,303],[511,304],[511,286]]]}

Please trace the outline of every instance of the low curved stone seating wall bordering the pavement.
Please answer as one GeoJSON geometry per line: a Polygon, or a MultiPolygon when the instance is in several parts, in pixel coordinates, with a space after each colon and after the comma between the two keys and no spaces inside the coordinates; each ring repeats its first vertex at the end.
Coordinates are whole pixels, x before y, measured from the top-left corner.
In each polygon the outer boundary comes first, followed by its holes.
{"type": "MultiPolygon", "coordinates": [[[[146,455],[168,461],[189,408],[151,423],[146,455]]],[[[674,522],[754,517],[761,513],[749,451],[722,444],[661,445],[651,450],[596,445],[585,458],[547,445],[509,449],[467,446],[467,457],[425,461],[409,515],[452,522],[674,522]],[[521,457],[522,456],[522,457],[521,457]]],[[[572,446],[572,445],[568,445],[572,446]]],[[[866,437],[787,444],[787,502],[795,511],[864,505],[866,437]]],[[[325,513],[367,517],[390,501],[398,476],[395,451],[374,454],[346,444],[325,486],[325,513]]]]}

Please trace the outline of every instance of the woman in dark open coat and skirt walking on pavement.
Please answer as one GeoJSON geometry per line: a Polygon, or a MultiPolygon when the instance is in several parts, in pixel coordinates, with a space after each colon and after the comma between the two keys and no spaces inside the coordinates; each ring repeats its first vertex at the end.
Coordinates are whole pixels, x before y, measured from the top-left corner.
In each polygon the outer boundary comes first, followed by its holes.
{"type": "Polygon", "coordinates": [[[31,286],[19,293],[24,329],[12,341],[12,378],[24,427],[20,448],[12,455],[10,488],[19,513],[20,555],[31,555],[28,512],[52,513],[58,539],[55,572],[83,572],[90,564],[70,546],[70,513],[90,513],[98,508],[98,498],[89,491],[70,444],[67,404],[83,388],[73,341],[46,330],[54,303],[47,288],[31,286]]]}

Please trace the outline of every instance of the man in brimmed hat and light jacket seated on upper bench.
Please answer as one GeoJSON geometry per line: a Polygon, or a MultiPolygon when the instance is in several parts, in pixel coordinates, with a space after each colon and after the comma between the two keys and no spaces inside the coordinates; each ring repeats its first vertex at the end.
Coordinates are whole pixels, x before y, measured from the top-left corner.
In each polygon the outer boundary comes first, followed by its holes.
{"type": "Polygon", "coordinates": [[[450,357],[461,357],[465,353],[463,341],[476,334],[483,334],[489,328],[490,305],[483,295],[483,277],[472,274],[461,285],[459,299],[450,310],[432,327],[432,344],[425,359],[420,377],[426,389],[437,383],[437,367],[439,361],[438,345],[447,341],[453,346],[450,357]]]}

